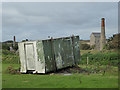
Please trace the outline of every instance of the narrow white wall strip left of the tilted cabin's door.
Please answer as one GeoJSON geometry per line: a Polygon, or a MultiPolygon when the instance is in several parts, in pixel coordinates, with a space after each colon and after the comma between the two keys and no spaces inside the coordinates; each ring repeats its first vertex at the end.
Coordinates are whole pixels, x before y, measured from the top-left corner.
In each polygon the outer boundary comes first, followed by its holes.
{"type": "Polygon", "coordinates": [[[25,61],[25,52],[24,52],[24,43],[18,43],[19,48],[19,56],[21,62],[21,69],[20,72],[26,73],[26,61],[25,61]]]}

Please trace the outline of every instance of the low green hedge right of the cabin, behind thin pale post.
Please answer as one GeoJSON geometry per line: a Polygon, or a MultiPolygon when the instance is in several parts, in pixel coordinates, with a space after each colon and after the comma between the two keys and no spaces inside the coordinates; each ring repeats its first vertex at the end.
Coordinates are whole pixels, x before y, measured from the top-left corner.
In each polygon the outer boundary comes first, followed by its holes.
{"type": "Polygon", "coordinates": [[[96,53],[90,54],[86,53],[81,56],[81,64],[87,63],[87,57],[89,58],[89,64],[99,64],[99,65],[118,65],[118,60],[120,54],[118,53],[96,53]]]}

